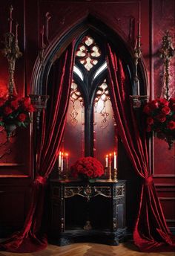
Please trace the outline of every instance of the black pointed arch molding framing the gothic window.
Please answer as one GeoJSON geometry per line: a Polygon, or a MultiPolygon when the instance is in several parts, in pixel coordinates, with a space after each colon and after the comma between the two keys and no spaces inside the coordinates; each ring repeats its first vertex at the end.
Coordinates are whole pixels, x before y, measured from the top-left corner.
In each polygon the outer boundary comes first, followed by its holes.
{"type": "MultiPolygon", "coordinates": [[[[46,95],[47,94],[47,79],[50,73],[50,68],[53,63],[62,55],[70,42],[75,38],[79,38],[88,30],[98,33],[99,36],[105,38],[116,48],[119,57],[127,61],[127,67],[131,74],[131,80],[134,74],[133,63],[133,48],[132,45],[127,42],[125,34],[121,31],[118,25],[112,28],[113,21],[103,21],[96,19],[92,14],[86,14],[81,20],[78,20],[76,24],[73,24],[72,28],[65,28],[65,33],[62,31],[60,35],[57,34],[55,38],[47,45],[44,50],[43,61],[37,57],[36,63],[33,67],[33,74],[31,79],[31,94],[46,95]]],[[[148,92],[148,77],[145,70],[145,65],[142,58],[139,60],[139,79],[140,79],[140,92],[141,95],[147,95],[148,92]]],[[[131,81],[132,83],[132,81],[131,81]]]]}

